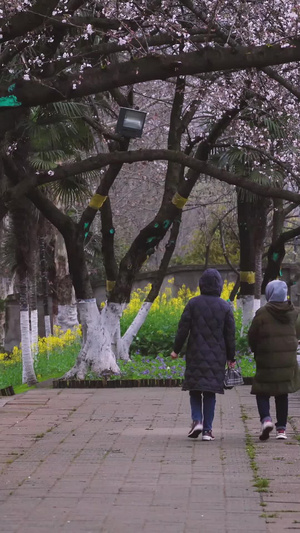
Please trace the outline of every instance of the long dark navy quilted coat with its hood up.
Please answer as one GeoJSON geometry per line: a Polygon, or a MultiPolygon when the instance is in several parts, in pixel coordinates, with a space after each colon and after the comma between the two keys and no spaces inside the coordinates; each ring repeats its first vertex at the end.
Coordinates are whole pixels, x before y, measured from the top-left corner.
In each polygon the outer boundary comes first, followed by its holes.
{"type": "Polygon", "coordinates": [[[199,285],[201,295],[188,302],[181,316],[174,352],[179,353],[188,338],[184,390],[223,394],[226,361],[235,356],[233,312],[220,298],[223,281],[217,270],[205,270],[199,285]]]}

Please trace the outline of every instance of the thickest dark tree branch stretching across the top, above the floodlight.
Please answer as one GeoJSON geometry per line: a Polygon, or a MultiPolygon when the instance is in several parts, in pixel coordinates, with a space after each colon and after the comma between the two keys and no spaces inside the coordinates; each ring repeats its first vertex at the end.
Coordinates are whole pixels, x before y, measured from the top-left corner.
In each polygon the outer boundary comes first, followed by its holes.
{"type": "MultiPolygon", "coordinates": [[[[111,90],[150,80],[200,74],[203,72],[245,70],[279,65],[300,59],[300,42],[287,47],[263,45],[233,48],[206,47],[178,55],[148,55],[105,68],[85,69],[56,77],[51,83],[19,79],[13,92],[22,106],[32,107],[111,90]]],[[[8,94],[8,90],[6,92],[8,94]]]]}

